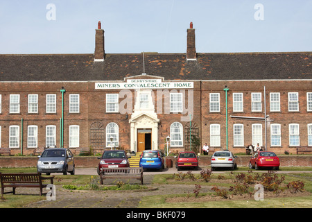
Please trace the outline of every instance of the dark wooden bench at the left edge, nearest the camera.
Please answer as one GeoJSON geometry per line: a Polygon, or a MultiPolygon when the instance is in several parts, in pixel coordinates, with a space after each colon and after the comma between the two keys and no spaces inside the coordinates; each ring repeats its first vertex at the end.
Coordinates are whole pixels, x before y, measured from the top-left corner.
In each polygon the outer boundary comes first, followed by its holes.
{"type": "Polygon", "coordinates": [[[42,189],[48,184],[43,184],[42,180],[50,180],[53,184],[54,176],[43,177],[41,173],[0,173],[1,179],[1,194],[15,194],[17,187],[38,187],[40,189],[40,196],[42,196],[42,189]],[[12,187],[12,191],[4,192],[4,188],[12,187]]]}

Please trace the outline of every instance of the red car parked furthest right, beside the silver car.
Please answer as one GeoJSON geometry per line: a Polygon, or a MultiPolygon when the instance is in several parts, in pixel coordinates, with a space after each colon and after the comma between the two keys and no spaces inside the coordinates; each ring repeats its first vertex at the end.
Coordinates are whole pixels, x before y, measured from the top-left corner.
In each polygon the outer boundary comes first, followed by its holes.
{"type": "Polygon", "coordinates": [[[259,167],[272,167],[279,169],[279,157],[273,152],[260,151],[255,153],[249,161],[249,168],[259,169],[259,167]]]}

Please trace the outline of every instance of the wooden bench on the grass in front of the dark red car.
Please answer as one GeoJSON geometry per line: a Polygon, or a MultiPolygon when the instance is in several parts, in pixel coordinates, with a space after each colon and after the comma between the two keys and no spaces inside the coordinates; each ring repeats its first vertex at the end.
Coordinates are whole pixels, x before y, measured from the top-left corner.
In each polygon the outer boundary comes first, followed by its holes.
{"type": "Polygon", "coordinates": [[[101,185],[103,180],[108,178],[135,178],[140,180],[143,185],[143,168],[142,167],[118,167],[102,168],[100,173],[101,185]]]}

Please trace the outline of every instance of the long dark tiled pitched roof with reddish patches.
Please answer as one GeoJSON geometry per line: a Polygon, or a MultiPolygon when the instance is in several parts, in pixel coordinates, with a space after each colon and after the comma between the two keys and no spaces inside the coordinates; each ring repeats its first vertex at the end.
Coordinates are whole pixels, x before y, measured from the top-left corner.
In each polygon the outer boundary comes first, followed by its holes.
{"type": "Polygon", "coordinates": [[[312,79],[312,52],[0,55],[0,81],[123,80],[144,72],[165,80],[312,79]]]}

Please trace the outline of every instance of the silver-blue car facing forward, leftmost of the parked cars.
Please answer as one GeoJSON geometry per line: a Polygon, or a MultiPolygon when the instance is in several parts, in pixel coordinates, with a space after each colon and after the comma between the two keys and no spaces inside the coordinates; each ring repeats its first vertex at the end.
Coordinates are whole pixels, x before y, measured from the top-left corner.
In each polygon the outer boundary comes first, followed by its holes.
{"type": "Polygon", "coordinates": [[[47,148],[42,155],[38,156],[37,172],[75,174],[73,154],[68,148],[47,148]]]}

